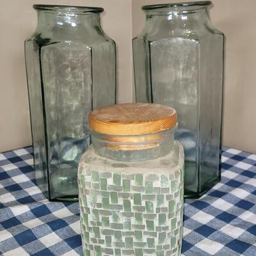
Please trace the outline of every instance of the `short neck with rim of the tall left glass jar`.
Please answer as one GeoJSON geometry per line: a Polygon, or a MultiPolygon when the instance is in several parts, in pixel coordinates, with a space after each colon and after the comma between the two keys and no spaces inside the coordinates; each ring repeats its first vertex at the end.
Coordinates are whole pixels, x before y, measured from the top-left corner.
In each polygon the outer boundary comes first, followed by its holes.
{"type": "Polygon", "coordinates": [[[100,12],[93,8],[72,8],[53,6],[49,8],[35,7],[37,10],[37,31],[54,29],[76,29],[77,27],[100,28],[100,12]]]}

